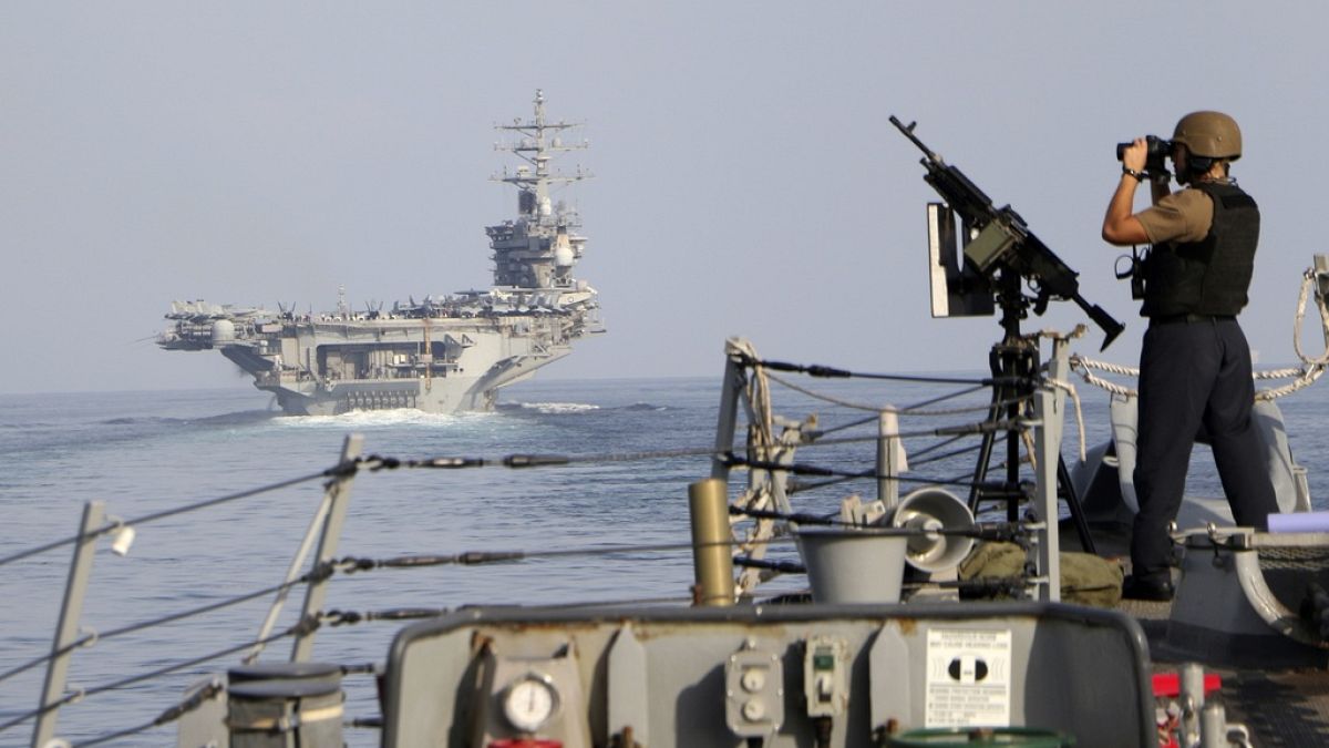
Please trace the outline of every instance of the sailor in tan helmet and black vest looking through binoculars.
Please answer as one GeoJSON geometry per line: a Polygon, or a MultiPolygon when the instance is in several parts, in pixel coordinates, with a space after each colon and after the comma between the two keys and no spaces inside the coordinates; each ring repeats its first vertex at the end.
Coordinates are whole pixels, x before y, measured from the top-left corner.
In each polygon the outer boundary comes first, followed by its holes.
{"type": "Polygon", "coordinates": [[[1191,447],[1208,438],[1236,523],[1264,530],[1278,511],[1264,467],[1264,445],[1251,418],[1251,349],[1237,325],[1260,236],[1260,210],[1229,174],[1241,156],[1241,130],[1220,112],[1181,117],[1171,142],[1177,182],[1144,173],[1148,142],[1122,153],[1122,178],[1103,218],[1103,240],[1148,244],[1143,262],[1150,321],[1140,350],[1139,434],[1131,570],[1123,596],[1172,598],[1172,546],[1191,447]],[[1135,189],[1150,178],[1152,206],[1132,214],[1135,189]]]}

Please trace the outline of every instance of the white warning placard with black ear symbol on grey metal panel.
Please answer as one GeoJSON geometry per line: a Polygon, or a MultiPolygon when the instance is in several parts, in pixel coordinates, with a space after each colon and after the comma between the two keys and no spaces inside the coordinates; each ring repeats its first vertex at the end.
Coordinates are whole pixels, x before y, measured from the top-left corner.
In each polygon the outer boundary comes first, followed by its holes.
{"type": "Polygon", "coordinates": [[[1010,725],[1010,631],[928,631],[925,727],[1010,725]]]}

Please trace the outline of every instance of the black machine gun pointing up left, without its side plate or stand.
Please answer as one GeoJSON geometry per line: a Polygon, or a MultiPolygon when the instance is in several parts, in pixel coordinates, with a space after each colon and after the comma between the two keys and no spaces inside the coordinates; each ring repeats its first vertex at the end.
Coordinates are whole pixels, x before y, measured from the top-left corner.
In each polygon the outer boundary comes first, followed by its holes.
{"type": "MultiPolygon", "coordinates": [[[[1047,302],[1051,299],[1074,301],[1106,334],[1103,349],[1126,329],[1102,306],[1092,305],[1080,295],[1076,280],[1079,273],[1071,270],[1042,240],[1035,237],[1025,220],[1010,205],[993,206],[991,198],[969,181],[969,177],[956,166],[948,165],[924,145],[913,133],[916,122],[906,126],[892,114],[890,124],[924,152],[921,162],[928,169],[924,180],[937,190],[950,210],[960,214],[964,226],[965,260],[971,268],[989,281],[1006,280],[1007,287],[1014,283],[1019,302],[1025,299],[1018,293],[1018,278],[1027,281],[1035,293],[1035,314],[1046,311],[1047,302]]],[[[1013,303],[1005,294],[998,301],[1003,309],[1013,303]]],[[[1006,311],[1010,310],[1006,309],[1006,311]]]]}

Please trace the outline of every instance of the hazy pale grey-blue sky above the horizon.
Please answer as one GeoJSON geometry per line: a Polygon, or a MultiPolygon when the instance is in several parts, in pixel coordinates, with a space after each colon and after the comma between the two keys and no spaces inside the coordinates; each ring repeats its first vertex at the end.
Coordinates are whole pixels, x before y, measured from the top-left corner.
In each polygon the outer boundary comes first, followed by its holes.
{"type": "Polygon", "coordinates": [[[1079,270],[1128,325],[1106,357],[1134,363],[1144,325],[1099,238],[1114,145],[1209,108],[1241,124],[1233,173],[1264,212],[1244,326],[1286,362],[1329,252],[1326,25],[1280,1],[4,3],[0,391],[249,386],[152,343],[171,299],[488,285],[484,226],[516,206],[492,126],[537,88],[587,124],[563,165],[597,177],[566,197],[609,327],[541,377],[718,375],[735,334],[860,370],[986,366],[994,318],[929,315],[934,193],[889,114],[1079,270]]]}

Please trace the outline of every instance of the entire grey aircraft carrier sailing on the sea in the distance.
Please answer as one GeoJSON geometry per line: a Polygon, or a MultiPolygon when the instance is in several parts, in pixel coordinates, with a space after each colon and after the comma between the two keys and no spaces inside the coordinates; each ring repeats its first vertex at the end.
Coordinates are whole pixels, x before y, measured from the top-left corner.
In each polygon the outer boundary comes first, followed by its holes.
{"type": "Polygon", "coordinates": [[[493,287],[355,311],[339,293],[330,313],[173,302],[157,339],[166,350],[217,350],[254,377],[292,415],[352,410],[489,410],[500,387],[520,382],[571,351],[573,341],[603,331],[595,289],[573,277],[586,237],[574,208],[554,201],[556,186],[590,177],[553,172],[577,122],[534,117],[496,125],[494,148],[522,162],[493,177],[517,188],[517,217],[488,226],[493,287]]]}

